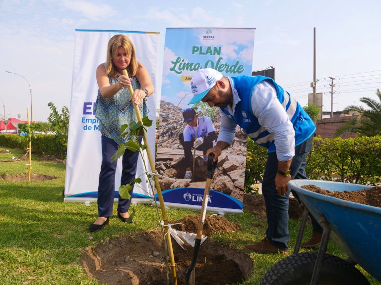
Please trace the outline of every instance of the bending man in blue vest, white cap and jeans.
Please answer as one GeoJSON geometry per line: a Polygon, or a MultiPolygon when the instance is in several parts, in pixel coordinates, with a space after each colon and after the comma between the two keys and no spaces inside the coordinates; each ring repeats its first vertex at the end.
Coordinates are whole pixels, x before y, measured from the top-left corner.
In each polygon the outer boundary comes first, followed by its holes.
{"type": "MultiPolygon", "coordinates": [[[[233,143],[237,125],[254,142],[268,149],[262,182],[266,236],[246,248],[259,253],[286,253],[290,194],[287,183],[291,179],[307,179],[306,155],[316,130],[314,122],[289,93],[268,77],[225,77],[205,68],[195,73],[191,88],[193,98],[189,104],[202,100],[210,107],[220,108],[217,144],[206,155],[213,152],[216,160],[233,143]]],[[[320,242],[322,229],[315,219],[313,228],[312,239],[302,246],[311,247],[320,242]]]]}

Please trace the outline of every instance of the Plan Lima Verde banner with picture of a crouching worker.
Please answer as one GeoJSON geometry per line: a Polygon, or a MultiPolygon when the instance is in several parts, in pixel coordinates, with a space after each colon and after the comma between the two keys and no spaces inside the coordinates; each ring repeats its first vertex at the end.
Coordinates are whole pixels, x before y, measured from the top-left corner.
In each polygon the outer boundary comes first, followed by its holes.
{"type": "MultiPolygon", "coordinates": [[[[160,182],[168,207],[201,208],[207,170],[204,153],[215,145],[220,130],[218,108],[209,108],[202,102],[188,105],[192,98],[191,78],[198,69],[207,67],[224,76],[251,75],[254,31],[166,29],[156,169],[162,175],[160,182]],[[195,114],[198,125],[187,125],[185,120],[192,120],[195,114]],[[200,136],[201,146],[190,152],[186,142],[200,136]]],[[[208,211],[242,213],[246,147],[247,135],[237,126],[234,143],[219,157],[208,211]]]]}

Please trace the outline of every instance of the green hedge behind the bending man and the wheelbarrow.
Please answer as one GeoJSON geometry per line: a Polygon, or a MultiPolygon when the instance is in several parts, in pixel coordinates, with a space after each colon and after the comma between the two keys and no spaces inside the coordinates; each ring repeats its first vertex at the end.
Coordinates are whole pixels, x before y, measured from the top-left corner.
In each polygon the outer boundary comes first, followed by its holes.
{"type": "MultiPolygon", "coordinates": [[[[266,149],[248,140],[245,184],[262,183],[266,149]]],[[[381,136],[354,139],[314,138],[307,156],[310,179],[380,185],[381,136]]],[[[250,190],[250,189],[246,189],[250,190]]]]}

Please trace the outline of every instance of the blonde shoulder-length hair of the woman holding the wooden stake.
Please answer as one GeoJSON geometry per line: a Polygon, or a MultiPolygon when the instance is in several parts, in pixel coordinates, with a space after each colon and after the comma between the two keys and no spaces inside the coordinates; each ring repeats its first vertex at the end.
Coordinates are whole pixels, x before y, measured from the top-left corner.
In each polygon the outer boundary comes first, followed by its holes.
{"type": "Polygon", "coordinates": [[[141,65],[136,59],[135,48],[131,40],[125,35],[115,35],[110,39],[107,45],[106,74],[113,78],[118,74],[118,69],[113,62],[113,57],[117,56],[119,47],[124,47],[127,54],[131,55],[131,60],[127,66],[127,73],[128,77],[135,76],[141,65]]]}

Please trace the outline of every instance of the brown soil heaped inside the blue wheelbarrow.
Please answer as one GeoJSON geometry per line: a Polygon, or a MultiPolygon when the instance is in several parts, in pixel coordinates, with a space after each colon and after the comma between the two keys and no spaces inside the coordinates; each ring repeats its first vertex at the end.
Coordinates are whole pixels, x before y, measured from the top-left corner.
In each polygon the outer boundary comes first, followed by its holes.
{"type": "Polygon", "coordinates": [[[302,186],[302,188],[347,201],[381,207],[381,186],[366,188],[358,191],[330,191],[323,190],[315,185],[306,185],[302,186]]]}

